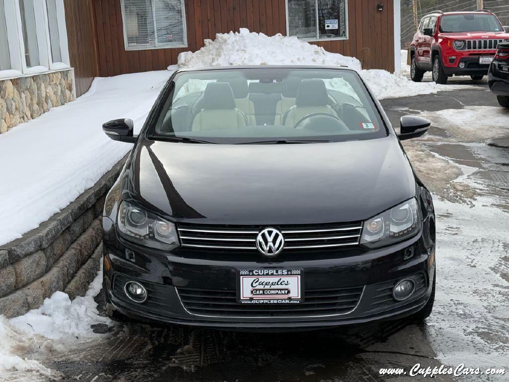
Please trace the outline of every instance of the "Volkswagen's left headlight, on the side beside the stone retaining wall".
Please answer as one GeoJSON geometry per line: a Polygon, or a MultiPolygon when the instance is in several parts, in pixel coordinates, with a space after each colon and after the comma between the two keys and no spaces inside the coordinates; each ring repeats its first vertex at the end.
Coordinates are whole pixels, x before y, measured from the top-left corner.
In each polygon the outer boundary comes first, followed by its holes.
{"type": "Polygon", "coordinates": [[[169,251],[179,245],[173,223],[132,203],[120,204],[117,224],[121,236],[147,247],[169,251]]]}

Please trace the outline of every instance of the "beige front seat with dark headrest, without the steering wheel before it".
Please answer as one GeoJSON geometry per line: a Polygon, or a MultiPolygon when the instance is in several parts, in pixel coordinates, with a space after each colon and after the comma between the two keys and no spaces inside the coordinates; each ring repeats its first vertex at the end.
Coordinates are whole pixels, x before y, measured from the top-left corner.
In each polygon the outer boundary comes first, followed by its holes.
{"type": "Polygon", "coordinates": [[[246,126],[244,115],[235,107],[232,88],[227,83],[207,84],[202,110],[192,122],[192,130],[229,130],[246,126]]]}

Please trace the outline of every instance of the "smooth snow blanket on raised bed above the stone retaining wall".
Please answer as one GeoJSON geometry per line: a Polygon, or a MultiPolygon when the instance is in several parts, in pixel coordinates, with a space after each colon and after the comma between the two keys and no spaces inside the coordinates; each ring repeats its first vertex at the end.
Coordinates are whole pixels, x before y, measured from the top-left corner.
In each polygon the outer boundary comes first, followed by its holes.
{"type": "Polygon", "coordinates": [[[131,118],[139,130],[168,71],[96,78],[87,94],[0,136],[0,244],[21,237],[93,186],[132,147],[102,124],[131,118]]]}

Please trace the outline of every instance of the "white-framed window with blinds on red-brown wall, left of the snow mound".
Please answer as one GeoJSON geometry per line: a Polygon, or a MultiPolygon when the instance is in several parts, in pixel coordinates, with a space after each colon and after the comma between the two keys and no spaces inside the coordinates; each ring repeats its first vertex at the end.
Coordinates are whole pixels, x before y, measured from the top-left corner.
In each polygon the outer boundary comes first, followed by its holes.
{"type": "Polygon", "coordinates": [[[123,0],[127,50],[187,46],[184,0],[123,0]]]}

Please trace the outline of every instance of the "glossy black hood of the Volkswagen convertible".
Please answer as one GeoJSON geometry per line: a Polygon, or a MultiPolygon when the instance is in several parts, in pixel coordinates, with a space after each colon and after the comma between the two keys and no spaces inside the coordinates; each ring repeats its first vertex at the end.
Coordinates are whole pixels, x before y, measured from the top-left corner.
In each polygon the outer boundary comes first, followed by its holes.
{"type": "Polygon", "coordinates": [[[207,224],[365,220],[416,194],[413,170],[393,135],[286,145],[144,140],[124,176],[127,197],[145,208],[207,224]]]}

